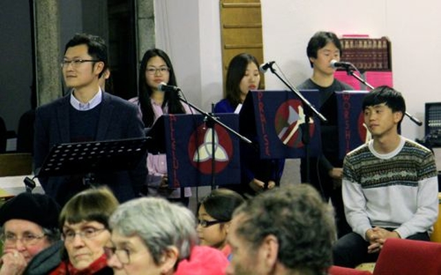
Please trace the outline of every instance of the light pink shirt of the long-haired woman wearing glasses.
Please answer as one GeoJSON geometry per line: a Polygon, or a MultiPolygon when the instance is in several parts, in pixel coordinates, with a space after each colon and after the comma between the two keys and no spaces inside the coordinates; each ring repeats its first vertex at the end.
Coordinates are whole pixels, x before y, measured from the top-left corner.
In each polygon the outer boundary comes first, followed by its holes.
{"type": "MultiPolygon", "coordinates": [[[[134,97],[129,99],[130,102],[138,105],[139,117],[142,119],[143,114],[141,112],[141,105],[139,104],[138,97],[134,97]]],[[[164,109],[161,105],[156,104],[156,102],[152,99],[152,108],[154,112],[154,123],[158,120],[159,116],[168,113],[167,106],[164,109]]],[[[185,113],[191,114],[190,108],[187,104],[182,103],[185,113]]],[[[181,198],[181,190],[176,189],[168,189],[163,190],[163,192],[158,192],[158,187],[161,185],[162,178],[165,174],[167,174],[167,155],[166,154],[147,154],[147,170],[149,174],[147,175],[146,184],[149,190],[150,196],[163,196],[165,198],[181,198]]],[[[189,187],[185,187],[184,196],[189,197],[192,196],[192,190],[189,187]]]]}

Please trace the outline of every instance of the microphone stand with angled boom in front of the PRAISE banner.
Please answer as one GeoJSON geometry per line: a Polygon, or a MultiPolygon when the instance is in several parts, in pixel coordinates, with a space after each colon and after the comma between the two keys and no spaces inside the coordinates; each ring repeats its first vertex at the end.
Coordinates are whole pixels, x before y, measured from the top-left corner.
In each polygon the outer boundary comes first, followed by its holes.
{"type": "MultiPolygon", "coordinates": [[[[310,164],[309,164],[309,141],[311,139],[311,136],[309,134],[309,119],[313,113],[316,114],[316,116],[318,116],[318,118],[322,122],[327,122],[327,119],[325,118],[325,116],[320,114],[320,112],[318,112],[318,110],[316,110],[316,108],[314,108],[314,106],[311,105],[311,103],[309,103],[309,101],[307,99],[305,99],[305,97],[302,94],[300,94],[300,92],[296,88],[294,88],[294,86],[290,85],[289,83],[287,83],[287,81],[285,81],[285,79],[280,77],[280,75],[276,72],[276,69],[273,68],[272,64],[269,67],[269,70],[271,70],[271,72],[273,74],[275,74],[276,77],[278,77],[278,79],[280,79],[280,81],[282,81],[285,85],[287,85],[289,90],[291,90],[291,92],[293,92],[302,102],[303,111],[305,113],[305,123],[302,123],[300,125],[300,129],[302,130],[302,143],[305,145],[305,159],[306,159],[306,180],[305,180],[305,182],[311,183],[311,179],[309,176],[309,170],[310,170],[310,168],[309,168],[310,167],[310,164]]],[[[292,136],[292,134],[294,134],[295,130],[296,130],[296,128],[293,128],[288,136],[292,136]]]]}

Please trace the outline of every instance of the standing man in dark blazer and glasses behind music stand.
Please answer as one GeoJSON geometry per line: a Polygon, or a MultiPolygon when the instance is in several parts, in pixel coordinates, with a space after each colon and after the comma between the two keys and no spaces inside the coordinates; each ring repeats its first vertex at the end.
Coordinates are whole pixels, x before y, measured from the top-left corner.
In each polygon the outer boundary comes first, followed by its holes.
{"type": "MultiPolygon", "coordinates": [[[[76,34],[65,46],[63,78],[72,92],[36,110],[34,167],[43,165],[53,145],[130,139],[145,136],[136,105],[101,90],[99,78],[107,69],[107,48],[90,34],[76,34]]],[[[115,160],[117,161],[117,160],[115,160]]],[[[120,202],[143,192],[145,157],[134,170],[97,173],[94,182],[108,185],[120,202]]],[[[39,178],[45,193],[60,205],[87,188],[83,176],[39,178]]]]}

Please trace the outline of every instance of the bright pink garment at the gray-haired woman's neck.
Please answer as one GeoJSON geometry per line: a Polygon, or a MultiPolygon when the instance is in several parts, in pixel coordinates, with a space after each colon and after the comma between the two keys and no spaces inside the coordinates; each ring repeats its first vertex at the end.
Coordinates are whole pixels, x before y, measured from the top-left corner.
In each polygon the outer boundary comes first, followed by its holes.
{"type": "Polygon", "coordinates": [[[195,246],[189,259],[178,263],[174,275],[223,275],[229,265],[227,257],[218,249],[195,246]]]}

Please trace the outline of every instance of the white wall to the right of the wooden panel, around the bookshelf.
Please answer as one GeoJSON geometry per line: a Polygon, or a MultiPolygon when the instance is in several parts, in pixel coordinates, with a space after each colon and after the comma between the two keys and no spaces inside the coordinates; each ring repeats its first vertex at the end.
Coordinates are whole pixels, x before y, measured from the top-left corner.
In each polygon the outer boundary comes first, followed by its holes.
{"type": "MultiPolygon", "coordinates": [[[[424,122],[424,103],[441,101],[431,81],[437,79],[441,58],[437,50],[441,47],[441,2],[262,0],[262,11],[265,57],[276,60],[294,84],[311,73],[305,48],[317,30],[387,36],[392,43],[394,87],[404,95],[407,112],[424,122]]],[[[265,80],[269,88],[281,87],[274,77],[265,80]]],[[[424,125],[404,119],[402,134],[422,138],[424,125]]]]}

